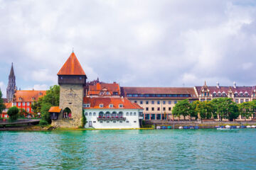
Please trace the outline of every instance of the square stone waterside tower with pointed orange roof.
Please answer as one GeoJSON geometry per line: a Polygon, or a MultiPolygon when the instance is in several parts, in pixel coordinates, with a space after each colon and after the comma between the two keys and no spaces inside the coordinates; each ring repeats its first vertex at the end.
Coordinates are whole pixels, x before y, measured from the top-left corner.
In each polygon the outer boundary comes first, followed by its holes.
{"type": "Polygon", "coordinates": [[[78,128],[82,125],[83,86],[86,84],[87,77],[74,52],[68,57],[57,75],[60,85],[59,107],[62,111],[58,120],[52,120],[52,125],[63,128],[78,128]]]}

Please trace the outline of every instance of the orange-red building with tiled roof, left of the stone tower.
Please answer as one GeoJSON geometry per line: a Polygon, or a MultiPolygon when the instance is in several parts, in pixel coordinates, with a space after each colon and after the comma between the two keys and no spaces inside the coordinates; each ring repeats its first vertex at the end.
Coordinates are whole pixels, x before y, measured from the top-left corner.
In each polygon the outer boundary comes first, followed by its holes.
{"type": "Polygon", "coordinates": [[[46,91],[36,90],[19,90],[15,91],[14,98],[12,99],[12,106],[24,109],[27,113],[33,113],[31,108],[32,103],[38,101],[39,98],[46,95],[46,91]]]}

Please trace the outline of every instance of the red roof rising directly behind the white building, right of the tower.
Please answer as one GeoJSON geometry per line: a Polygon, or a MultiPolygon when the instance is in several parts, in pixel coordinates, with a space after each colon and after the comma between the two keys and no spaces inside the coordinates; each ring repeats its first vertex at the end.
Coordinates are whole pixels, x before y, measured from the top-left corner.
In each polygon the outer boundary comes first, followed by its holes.
{"type": "Polygon", "coordinates": [[[107,91],[110,92],[110,95],[113,95],[113,92],[117,92],[118,95],[120,95],[120,87],[119,84],[113,83],[113,84],[105,84],[105,83],[97,83],[95,85],[89,86],[88,95],[100,95],[100,92],[104,89],[107,89],[107,91]]]}

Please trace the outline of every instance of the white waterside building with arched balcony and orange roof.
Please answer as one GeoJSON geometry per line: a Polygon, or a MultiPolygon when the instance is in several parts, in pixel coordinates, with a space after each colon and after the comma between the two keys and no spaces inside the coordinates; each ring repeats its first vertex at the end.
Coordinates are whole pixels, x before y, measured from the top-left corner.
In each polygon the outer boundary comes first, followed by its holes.
{"type": "Polygon", "coordinates": [[[127,98],[84,98],[85,128],[128,129],[140,128],[143,108],[127,98]]]}

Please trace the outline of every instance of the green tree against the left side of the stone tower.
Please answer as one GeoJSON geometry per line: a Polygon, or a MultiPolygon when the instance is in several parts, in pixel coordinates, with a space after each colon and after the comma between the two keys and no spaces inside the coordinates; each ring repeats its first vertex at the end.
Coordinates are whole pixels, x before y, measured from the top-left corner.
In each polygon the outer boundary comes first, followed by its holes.
{"type": "Polygon", "coordinates": [[[35,113],[41,113],[42,121],[50,123],[50,114],[48,113],[51,106],[59,106],[60,103],[60,86],[50,86],[46,95],[39,98],[31,106],[35,113]]]}

